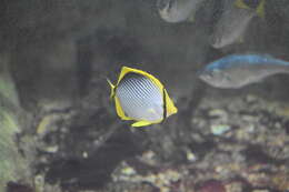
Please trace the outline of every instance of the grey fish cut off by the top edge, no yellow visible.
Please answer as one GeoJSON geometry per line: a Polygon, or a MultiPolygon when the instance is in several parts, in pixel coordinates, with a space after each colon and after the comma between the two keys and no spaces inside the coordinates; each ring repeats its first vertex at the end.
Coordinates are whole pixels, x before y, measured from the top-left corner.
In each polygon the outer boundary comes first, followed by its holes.
{"type": "Polygon", "coordinates": [[[167,22],[193,21],[197,10],[205,0],[158,0],[160,17],[167,22]]]}

